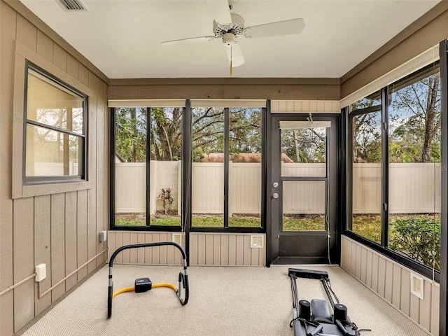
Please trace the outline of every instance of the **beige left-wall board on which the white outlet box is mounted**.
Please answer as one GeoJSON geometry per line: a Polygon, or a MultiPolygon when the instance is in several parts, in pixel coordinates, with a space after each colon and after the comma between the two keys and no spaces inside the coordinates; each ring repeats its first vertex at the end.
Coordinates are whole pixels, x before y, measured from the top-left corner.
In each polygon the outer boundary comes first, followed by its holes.
{"type": "MultiPolygon", "coordinates": [[[[51,197],[34,198],[34,266],[45,264],[47,277],[40,283],[41,289],[51,287],[51,197]]],[[[51,304],[51,295],[38,299],[37,283],[34,290],[36,315],[51,304]]]]}

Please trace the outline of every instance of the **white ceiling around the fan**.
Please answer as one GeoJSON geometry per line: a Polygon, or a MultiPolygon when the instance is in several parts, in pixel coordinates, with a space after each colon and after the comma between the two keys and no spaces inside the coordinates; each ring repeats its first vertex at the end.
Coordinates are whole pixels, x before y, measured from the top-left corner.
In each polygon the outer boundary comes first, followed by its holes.
{"type": "MultiPolygon", "coordinates": [[[[167,47],[162,41],[213,35],[207,1],[83,0],[66,12],[57,0],[20,0],[109,78],[230,76],[221,41],[167,47]]],[[[227,0],[210,0],[227,1],[227,0]]],[[[239,78],[339,78],[439,0],[239,0],[245,26],[303,18],[301,34],[237,38],[246,62],[239,78]]]]}

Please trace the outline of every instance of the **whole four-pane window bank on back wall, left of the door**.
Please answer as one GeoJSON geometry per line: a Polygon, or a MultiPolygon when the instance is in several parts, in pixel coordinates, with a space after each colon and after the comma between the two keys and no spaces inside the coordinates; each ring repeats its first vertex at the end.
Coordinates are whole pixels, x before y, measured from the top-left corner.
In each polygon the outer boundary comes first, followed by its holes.
{"type": "Polygon", "coordinates": [[[262,231],[262,107],[125,104],[111,103],[112,229],[262,231]]]}

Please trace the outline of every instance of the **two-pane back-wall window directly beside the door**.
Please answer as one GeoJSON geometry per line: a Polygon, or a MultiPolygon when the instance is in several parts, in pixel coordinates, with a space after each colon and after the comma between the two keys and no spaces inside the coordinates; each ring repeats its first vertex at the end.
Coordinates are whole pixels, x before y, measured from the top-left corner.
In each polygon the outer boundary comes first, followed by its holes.
{"type": "Polygon", "coordinates": [[[197,228],[260,228],[261,109],[193,109],[193,220],[197,228]]]}

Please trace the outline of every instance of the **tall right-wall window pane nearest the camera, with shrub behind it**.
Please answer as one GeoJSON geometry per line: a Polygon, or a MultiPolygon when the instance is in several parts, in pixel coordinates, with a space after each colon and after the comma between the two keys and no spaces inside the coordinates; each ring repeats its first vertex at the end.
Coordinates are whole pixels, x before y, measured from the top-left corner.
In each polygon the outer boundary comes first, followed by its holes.
{"type": "Polygon", "coordinates": [[[388,247],[440,271],[439,64],[388,94],[388,247]]]}

